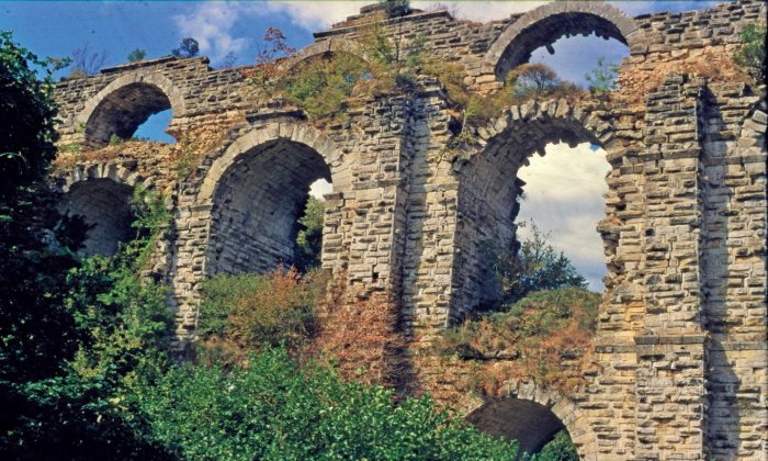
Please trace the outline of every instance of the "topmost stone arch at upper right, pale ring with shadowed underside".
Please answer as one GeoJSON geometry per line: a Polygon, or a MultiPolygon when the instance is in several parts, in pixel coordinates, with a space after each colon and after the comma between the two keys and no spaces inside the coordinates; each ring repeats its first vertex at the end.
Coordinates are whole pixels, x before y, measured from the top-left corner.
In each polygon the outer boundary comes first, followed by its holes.
{"type": "Polygon", "coordinates": [[[531,10],[509,24],[483,57],[482,70],[504,79],[510,69],[527,63],[534,49],[550,46],[564,35],[592,32],[618,40],[633,54],[645,50],[643,31],[620,9],[598,1],[558,1],[531,10]]]}

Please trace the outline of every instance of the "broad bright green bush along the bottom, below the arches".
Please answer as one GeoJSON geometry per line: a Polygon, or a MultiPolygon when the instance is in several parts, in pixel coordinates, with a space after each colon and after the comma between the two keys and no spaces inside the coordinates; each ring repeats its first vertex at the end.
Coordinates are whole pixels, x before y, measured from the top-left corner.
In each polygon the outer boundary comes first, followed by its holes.
{"type": "Polygon", "coordinates": [[[228,372],[174,368],[138,402],[155,441],[178,458],[517,459],[516,443],[461,425],[428,397],[393,397],[269,350],[228,372]]]}

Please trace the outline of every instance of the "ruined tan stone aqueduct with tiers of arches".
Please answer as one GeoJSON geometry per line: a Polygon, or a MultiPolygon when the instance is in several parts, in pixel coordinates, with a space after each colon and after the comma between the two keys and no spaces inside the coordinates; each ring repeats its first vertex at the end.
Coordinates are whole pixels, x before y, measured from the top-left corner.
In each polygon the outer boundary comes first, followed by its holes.
{"type": "MultiPolygon", "coordinates": [[[[316,33],[282,66],[365,58],[358,38],[375,10],[316,33]]],[[[630,49],[623,100],[509,108],[452,159],[442,155],[452,117],[434,79],[316,127],[258,103],[242,69],[212,70],[204,58],[104,69],[58,85],[61,146],[101,148],[171,109],[168,132],[199,155],[185,176],[151,153],[76,156],[58,172],[61,207],[97,224],[87,252],[110,252],[129,231],[131,191],[166,192],[174,220],[155,270],[173,288],[183,339],[194,335],[204,277],[291,259],[309,184],[325,178],[323,266],[360,291],[392,293],[410,337],[428,340],[482,299],[482,243],[513,238],[518,169],[547,143],[599,144],[611,167],[598,224],[609,269],[599,371],[567,395],[509,382],[467,419],[512,437],[565,426],[584,459],[765,460],[767,109],[763,90],[718,78],[738,31],[765,19],[756,1],[637,18],[602,2],[555,2],[487,24],[447,12],[383,19],[393,38],[426,33],[429,53],[463,65],[481,92],[566,34],[596,32],[630,49]]],[[[422,374],[421,391],[440,381],[428,366],[422,374]]]]}

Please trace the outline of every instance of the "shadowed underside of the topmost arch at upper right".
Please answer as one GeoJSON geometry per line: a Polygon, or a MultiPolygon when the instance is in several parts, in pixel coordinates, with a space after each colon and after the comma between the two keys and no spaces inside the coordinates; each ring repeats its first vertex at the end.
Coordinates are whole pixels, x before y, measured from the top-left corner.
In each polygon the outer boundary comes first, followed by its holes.
{"type": "Polygon", "coordinates": [[[528,63],[537,48],[547,47],[553,53],[552,44],[563,36],[588,36],[591,33],[626,45],[619,27],[603,18],[580,12],[553,14],[526,27],[507,45],[496,65],[496,76],[502,79],[512,68],[528,63]]]}

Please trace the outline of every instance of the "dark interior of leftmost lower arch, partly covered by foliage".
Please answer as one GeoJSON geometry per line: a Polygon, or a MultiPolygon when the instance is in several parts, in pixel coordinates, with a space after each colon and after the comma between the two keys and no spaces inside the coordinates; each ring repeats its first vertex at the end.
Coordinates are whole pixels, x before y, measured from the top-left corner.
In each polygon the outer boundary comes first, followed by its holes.
{"type": "Polygon", "coordinates": [[[128,241],[131,227],[131,195],[133,188],[111,179],[89,179],[76,182],[58,204],[60,213],[80,215],[90,227],[81,256],[114,255],[120,243],[128,241]]]}

